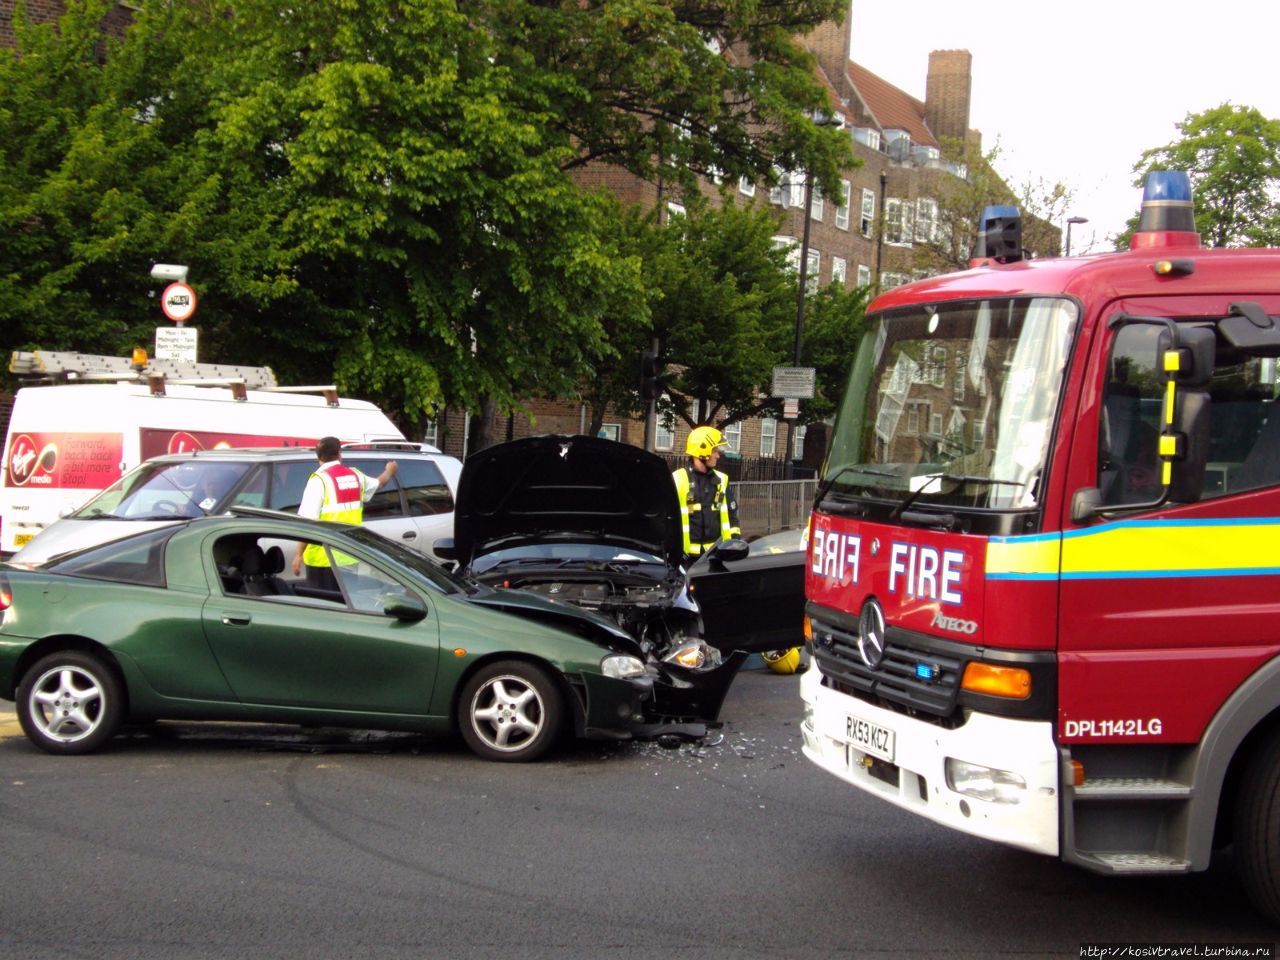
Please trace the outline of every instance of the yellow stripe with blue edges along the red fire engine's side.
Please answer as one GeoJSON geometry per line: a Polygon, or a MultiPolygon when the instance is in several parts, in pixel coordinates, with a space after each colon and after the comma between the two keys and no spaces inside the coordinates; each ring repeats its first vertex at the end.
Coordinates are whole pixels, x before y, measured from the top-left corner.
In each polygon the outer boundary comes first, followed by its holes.
{"type": "Polygon", "coordinates": [[[1280,575],[1280,517],[1123,520],[993,536],[987,580],[1152,580],[1280,575]]]}

